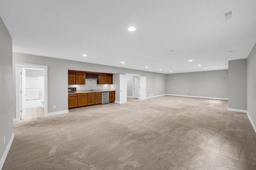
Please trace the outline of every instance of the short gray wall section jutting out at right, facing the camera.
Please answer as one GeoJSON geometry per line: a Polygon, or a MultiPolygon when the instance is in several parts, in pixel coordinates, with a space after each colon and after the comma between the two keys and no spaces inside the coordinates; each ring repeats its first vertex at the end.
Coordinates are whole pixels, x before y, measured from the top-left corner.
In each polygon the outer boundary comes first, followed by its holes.
{"type": "Polygon", "coordinates": [[[228,108],[247,109],[247,59],[228,61],[228,108]]]}

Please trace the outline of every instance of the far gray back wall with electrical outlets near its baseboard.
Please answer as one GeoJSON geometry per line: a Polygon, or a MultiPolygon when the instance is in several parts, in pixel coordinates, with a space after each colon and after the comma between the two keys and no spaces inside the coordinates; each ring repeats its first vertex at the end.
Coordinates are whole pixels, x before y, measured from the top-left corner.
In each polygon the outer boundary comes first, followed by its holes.
{"type": "Polygon", "coordinates": [[[167,94],[228,98],[228,70],[168,74],[167,94]]]}

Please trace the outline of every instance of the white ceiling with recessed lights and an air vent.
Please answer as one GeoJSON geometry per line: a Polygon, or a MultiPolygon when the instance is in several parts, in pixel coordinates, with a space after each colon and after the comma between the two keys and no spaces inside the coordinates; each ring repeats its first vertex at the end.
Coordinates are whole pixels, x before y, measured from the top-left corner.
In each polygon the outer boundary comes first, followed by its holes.
{"type": "Polygon", "coordinates": [[[246,59],[255,8],[256,0],[0,0],[14,52],[165,74],[246,59]]]}

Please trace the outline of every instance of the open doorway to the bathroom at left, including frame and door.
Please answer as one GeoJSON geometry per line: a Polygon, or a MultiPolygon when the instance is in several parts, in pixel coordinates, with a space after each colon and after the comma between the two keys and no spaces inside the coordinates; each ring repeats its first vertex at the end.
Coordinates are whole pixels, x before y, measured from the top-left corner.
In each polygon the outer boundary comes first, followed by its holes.
{"type": "Polygon", "coordinates": [[[32,64],[15,64],[16,118],[20,121],[47,115],[47,68],[32,64]],[[28,114],[26,114],[28,113],[28,114]]]}

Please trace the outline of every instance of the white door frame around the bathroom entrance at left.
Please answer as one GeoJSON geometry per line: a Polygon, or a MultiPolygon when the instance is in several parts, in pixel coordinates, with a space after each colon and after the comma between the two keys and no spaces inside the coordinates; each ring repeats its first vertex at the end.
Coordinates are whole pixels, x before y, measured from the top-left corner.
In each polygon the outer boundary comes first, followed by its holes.
{"type": "Polygon", "coordinates": [[[20,121],[20,87],[21,87],[20,70],[21,68],[44,70],[44,116],[46,116],[48,113],[48,66],[15,63],[16,118],[13,119],[13,122],[20,121]]]}

